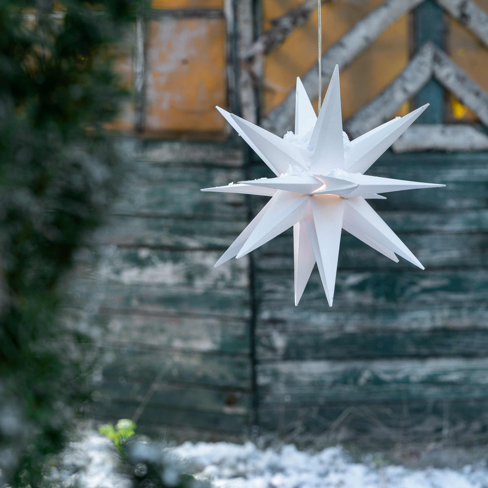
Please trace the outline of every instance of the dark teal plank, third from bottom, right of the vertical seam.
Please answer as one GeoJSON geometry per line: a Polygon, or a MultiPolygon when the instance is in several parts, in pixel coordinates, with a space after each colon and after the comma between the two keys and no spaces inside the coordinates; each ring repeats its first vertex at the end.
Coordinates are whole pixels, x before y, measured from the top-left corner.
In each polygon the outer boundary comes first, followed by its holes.
{"type": "Polygon", "coordinates": [[[260,362],[312,359],[402,357],[483,357],[488,330],[352,332],[339,330],[303,333],[299,327],[285,333],[272,326],[260,327],[256,337],[260,362]]]}

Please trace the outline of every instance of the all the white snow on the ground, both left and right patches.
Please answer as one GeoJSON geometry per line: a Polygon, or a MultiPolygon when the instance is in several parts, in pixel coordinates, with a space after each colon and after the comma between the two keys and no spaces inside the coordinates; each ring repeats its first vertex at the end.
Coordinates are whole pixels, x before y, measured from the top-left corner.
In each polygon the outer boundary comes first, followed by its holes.
{"type": "MultiPolygon", "coordinates": [[[[461,469],[409,469],[353,462],[341,447],[305,452],[293,445],[260,449],[251,442],[185,442],[163,452],[216,488],[488,488],[482,462],[461,469]]],[[[89,431],[66,447],[50,477],[64,487],[128,488],[119,459],[112,441],[89,431]]]]}

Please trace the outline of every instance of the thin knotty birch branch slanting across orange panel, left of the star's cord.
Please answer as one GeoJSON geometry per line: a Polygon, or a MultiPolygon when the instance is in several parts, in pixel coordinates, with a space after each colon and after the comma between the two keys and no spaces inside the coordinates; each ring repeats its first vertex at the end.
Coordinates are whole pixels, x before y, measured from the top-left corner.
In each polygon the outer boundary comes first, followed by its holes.
{"type": "MultiPolygon", "coordinates": [[[[337,0],[321,0],[322,3],[337,0]]],[[[264,32],[254,44],[244,52],[244,59],[265,55],[283,44],[294,29],[303,25],[317,8],[317,0],[305,0],[303,3],[286,12],[285,15],[271,20],[272,27],[264,32]]]]}

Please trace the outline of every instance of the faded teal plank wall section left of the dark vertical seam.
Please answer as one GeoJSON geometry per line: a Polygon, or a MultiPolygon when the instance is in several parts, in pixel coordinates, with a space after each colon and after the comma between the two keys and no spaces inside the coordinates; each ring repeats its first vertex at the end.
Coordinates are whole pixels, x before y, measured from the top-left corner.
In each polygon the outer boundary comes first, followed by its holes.
{"type": "MultiPolygon", "coordinates": [[[[249,259],[213,264],[246,225],[242,195],[200,188],[244,179],[228,144],[141,142],[110,222],[94,321],[102,365],[91,414],[115,421],[145,404],[140,428],[248,432],[249,259]]],[[[93,284],[80,281],[79,297],[93,284]]]]}

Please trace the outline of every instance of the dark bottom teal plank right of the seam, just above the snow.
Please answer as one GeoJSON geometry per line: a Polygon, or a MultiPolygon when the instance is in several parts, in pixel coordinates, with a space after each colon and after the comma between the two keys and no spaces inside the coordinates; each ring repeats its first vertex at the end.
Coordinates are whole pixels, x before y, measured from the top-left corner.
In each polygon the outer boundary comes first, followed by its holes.
{"type": "Polygon", "coordinates": [[[411,446],[429,442],[476,445],[486,442],[486,399],[401,402],[260,409],[265,433],[312,445],[352,443],[355,448],[411,446]]]}

